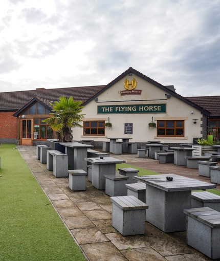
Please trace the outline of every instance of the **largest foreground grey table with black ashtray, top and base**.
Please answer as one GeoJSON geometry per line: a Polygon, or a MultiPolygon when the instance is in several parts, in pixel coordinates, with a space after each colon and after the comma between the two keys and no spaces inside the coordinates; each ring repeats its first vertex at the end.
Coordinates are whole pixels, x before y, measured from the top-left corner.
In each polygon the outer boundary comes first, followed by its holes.
{"type": "Polygon", "coordinates": [[[184,209],[191,208],[191,190],[216,188],[216,185],[176,174],[134,176],[146,183],[146,221],[164,232],[186,230],[184,209]],[[166,177],[172,177],[168,181],[166,177]]]}

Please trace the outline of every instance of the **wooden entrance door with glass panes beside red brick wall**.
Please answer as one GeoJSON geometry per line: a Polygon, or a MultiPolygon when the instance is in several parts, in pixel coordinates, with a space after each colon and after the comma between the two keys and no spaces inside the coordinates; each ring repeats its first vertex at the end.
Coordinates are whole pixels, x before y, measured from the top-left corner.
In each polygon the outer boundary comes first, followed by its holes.
{"type": "Polygon", "coordinates": [[[33,132],[32,132],[32,119],[21,120],[21,145],[32,145],[33,132]]]}

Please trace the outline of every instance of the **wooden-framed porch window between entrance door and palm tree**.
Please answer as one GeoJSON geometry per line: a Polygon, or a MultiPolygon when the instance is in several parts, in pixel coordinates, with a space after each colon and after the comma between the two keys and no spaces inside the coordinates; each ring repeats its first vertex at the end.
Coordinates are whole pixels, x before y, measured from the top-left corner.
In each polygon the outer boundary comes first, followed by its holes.
{"type": "Polygon", "coordinates": [[[34,119],[34,139],[53,139],[53,130],[50,125],[46,124],[46,122],[42,122],[42,120],[45,119],[34,119]]]}

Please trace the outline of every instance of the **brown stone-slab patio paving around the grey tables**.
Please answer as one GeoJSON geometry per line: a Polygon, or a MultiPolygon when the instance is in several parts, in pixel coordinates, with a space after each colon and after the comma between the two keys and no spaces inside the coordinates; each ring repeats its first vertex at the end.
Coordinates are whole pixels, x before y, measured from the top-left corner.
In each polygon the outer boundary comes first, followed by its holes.
{"type": "MultiPolygon", "coordinates": [[[[55,178],[53,171],[36,159],[35,146],[18,146],[18,150],[87,260],[212,260],[186,244],[185,231],[164,233],[145,222],[144,235],[122,236],[111,225],[112,203],[105,191],[97,190],[89,181],[85,191],[71,191],[68,178],[55,178]]],[[[152,159],[138,159],[136,155],[111,156],[150,170],[198,178],[197,170],[171,163],[159,164],[152,159]]]]}

